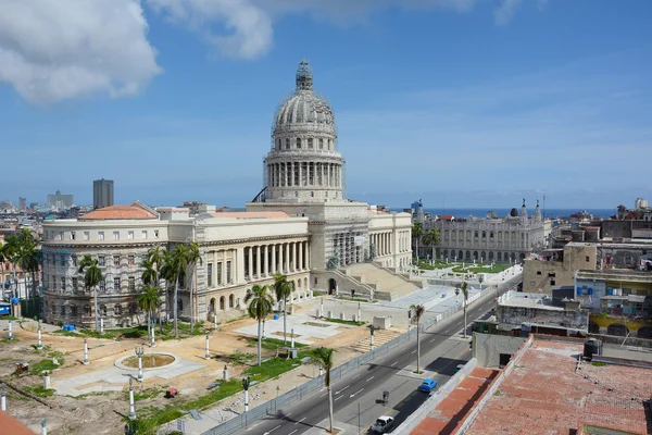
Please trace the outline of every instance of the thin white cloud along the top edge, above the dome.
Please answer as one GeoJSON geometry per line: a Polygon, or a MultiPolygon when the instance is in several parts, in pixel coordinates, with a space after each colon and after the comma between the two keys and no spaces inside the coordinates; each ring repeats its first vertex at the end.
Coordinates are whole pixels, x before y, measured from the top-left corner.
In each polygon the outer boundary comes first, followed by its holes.
{"type": "MultiPolygon", "coordinates": [[[[158,14],[188,27],[229,58],[254,59],[273,46],[274,21],[304,13],[338,24],[364,21],[374,10],[449,9],[471,11],[479,0],[145,0],[158,14]]],[[[519,0],[502,0],[494,10],[498,24],[507,23],[519,0]]]]}

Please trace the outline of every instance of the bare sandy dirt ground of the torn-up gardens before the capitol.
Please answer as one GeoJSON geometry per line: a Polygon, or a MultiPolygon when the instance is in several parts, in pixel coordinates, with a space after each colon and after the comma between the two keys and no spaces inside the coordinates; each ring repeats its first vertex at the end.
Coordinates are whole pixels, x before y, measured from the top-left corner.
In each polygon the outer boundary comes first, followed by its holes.
{"type": "MultiPolygon", "coordinates": [[[[316,300],[301,306],[296,306],[297,311],[314,312],[316,300]]],[[[172,352],[190,361],[197,361],[205,368],[177,376],[172,380],[162,380],[159,377],[146,380],[141,386],[143,389],[160,388],[153,397],[138,400],[136,408],[142,407],[163,407],[170,401],[163,398],[163,391],[166,387],[173,386],[179,390],[185,398],[196,398],[206,394],[206,387],[216,380],[222,380],[222,370],[227,364],[231,377],[240,375],[248,365],[234,365],[228,356],[233,353],[255,353],[255,347],[248,346],[248,337],[234,331],[252,324],[255,321],[251,319],[241,319],[220,326],[218,332],[214,332],[210,339],[210,349],[212,359],[205,360],[205,338],[204,336],[195,336],[183,340],[158,341],[155,350],[172,352]]],[[[212,328],[212,324],[206,323],[206,328],[212,328]]],[[[316,340],[313,347],[328,346],[337,349],[335,353],[336,365],[339,365],[359,355],[364,350],[360,346],[368,337],[366,327],[340,328],[346,334],[338,334],[328,338],[327,343],[316,340]]],[[[3,332],[2,337],[7,336],[3,332]]],[[[114,341],[110,339],[88,338],[90,364],[84,365],[84,339],[77,337],[66,337],[52,333],[42,334],[43,350],[36,350],[34,345],[37,343],[37,334],[33,326],[24,325],[17,327],[14,323],[14,336],[16,339],[0,341],[0,381],[11,384],[17,388],[24,389],[43,385],[40,375],[24,374],[16,376],[13,374],[16,363],[26,361],[34,364],[57,356],[53,352],[63,353],[63,364],[51,374],[52,383],[57,381],[78,376],[83,373],[90,373],[98,369],[112,366],[116,359],[134,355],[136,346],[149,347],[145,339],[121,339],[114,341]]],[[[263,350],[263,357],[272,357],[273,350],[263,350]]],[[[300,385],[318,372],[313,365],[301,365],[276,380],[271,380],[252,387],[251,406],[276,397],[277,394],[284,394],[297,385],[300,385]]],[[[48,419],[48,433],[51,435],[64,434],[123,434],[123,419],[128,413],[128,398],[126,395],[127,386],[123,391],[96,393],[77,398],[70,396],[52,395],[41,400],[43,405],[34,399],[24,397],[12,388],[8,391],[8,411],[21,422],[26,424],[35,433],[40,433],[40,421],[48,419]]],[[[138,390],[137,390],[138,393],[138,390]]],[[[229,407],[237,403],[237,398],[224,399],[220,406],[229,407]]],[[[234,408],[235,409],[235,408],[234,408]]],[[[235,409],[237,412],[241,410],[235,409]]],[[[1,431],[0,431],[1,432],[1,431]]]]}

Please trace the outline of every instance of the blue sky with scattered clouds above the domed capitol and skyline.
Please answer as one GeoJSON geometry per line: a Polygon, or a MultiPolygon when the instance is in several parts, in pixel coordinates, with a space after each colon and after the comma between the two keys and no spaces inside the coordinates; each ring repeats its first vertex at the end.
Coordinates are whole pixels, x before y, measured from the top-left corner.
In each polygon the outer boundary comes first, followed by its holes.
{"type": "Polygon", "coordinates": [[[243,207],[306,59],[351,199],[652,200],[649,0],[4,0],[0,199],[243,207]]]}

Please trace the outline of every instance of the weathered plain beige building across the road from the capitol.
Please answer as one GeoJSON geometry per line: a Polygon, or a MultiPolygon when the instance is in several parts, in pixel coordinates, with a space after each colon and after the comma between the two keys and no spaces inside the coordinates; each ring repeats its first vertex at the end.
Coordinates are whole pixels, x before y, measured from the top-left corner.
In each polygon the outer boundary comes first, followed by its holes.
{"type": "Polygon", "coordinates": [[[570,243],[525,260],[523,291],[551,294],[552,287],[573,286],[576,271],[595,269],[595,245],[570,243]]]}

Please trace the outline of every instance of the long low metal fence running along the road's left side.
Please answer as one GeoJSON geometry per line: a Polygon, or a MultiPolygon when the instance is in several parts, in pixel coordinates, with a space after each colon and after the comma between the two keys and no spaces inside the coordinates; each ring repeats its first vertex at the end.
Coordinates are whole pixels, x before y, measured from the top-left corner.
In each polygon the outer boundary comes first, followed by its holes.
{"type": "MultiPolygon", "coordinates": [[[[511,282],[504,282],[499,285],[499,288],[502,290],[502,288],[509,287],[511,285],[512,285],[511,282]]],[[[490,287],[486,287],[486,289],[490,290],[490,287]]],[[[482,291],[482,293],[485,295],[487,294],[487,291],[482,291]]],[[[482,295],[482,296],[485,296],[485,295],[482,295]]],[[[479,296],[479,294],[478,294],[478,296],[479,296]]],[[[438,313],[437,315],[435,315],[430,319],[424,320],[421,324],[421,331],[424,332],[424,331],[428,330],[429,327],[431,327],[432,325],[450,318],[457,310],[462,310],[462,306],[451,307],[450,309],[448,309],[447,311],[444,311],[442,313],[438,313]]],[[[336,366],[335,369],[330,370],[330,382],[333,383],[337,380],[340,380],[342,376],[356,370],[361,365],[372,362],[378,358],[385,357],[392,349],[396,349],[399,346],[403,346],[403,345],[408,344],[413,338],[416,338],[416,328],[412,328],[411,331],[409,331],[402,335],[399,335],[398,337],[387,341],[386,344],[376,347],[374,350],[369,350],[368,352],[363,353],[358,358],[354,358],[350,361],[344,362],[341,365],[336,366]]],[[[230,435],[230,434],[238,433],[242,430],[246,430],[247,427],[249,427],[249,425],[255,423],[256,421],[259,421],[265,417],[275,415],[283,408],[286,408],[287,406],[301,400],[306,395],[309,395],[317,389],[321,389],[323,387],[324,387],[324,375],[314,377],[311,381],[306,382],[305,384],[300,385],[300,386],[289,390],[288,393],[279,396],[278,398],[266,401],[265,403],[262,403],[262,405],[249,410],[249,412],[244,412],[234,419],[230,419],[230,420],[222,423],[221,425],[215,426],[215,427],[204,432],[202,435],[230,435]]]]}

